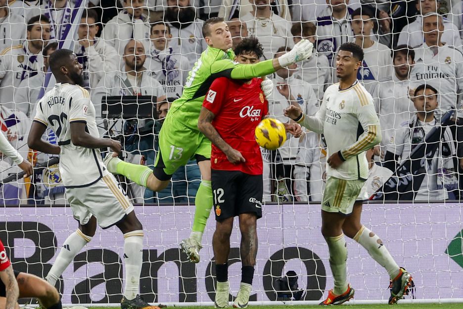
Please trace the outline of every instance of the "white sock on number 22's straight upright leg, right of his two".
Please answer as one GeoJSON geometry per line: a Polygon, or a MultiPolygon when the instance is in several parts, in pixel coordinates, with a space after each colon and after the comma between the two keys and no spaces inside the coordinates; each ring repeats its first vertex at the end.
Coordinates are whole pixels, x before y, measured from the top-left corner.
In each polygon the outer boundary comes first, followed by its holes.
{"type": "Polygon", "coordinates": [[[124,264],[126,284],[124,297],[133,300],[139,294],[141,263],[143,262],[143,231],[124,234],[124,264]]]}

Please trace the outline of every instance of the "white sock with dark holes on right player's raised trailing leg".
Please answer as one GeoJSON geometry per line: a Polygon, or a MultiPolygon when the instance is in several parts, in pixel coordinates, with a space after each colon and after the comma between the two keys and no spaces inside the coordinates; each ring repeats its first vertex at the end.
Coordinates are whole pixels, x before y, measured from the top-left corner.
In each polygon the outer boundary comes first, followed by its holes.
{"type": "Polygon", "coordinates": [[[400,272],[400,268],[387,251],[386,246],[383,245],[382,240],[371,232],[365,226],[355,234],[354,240],[367,249],[370,256],[378,262],[379,265],[386,268],[387,273],[391,279],[394,279],[400,272]]]}

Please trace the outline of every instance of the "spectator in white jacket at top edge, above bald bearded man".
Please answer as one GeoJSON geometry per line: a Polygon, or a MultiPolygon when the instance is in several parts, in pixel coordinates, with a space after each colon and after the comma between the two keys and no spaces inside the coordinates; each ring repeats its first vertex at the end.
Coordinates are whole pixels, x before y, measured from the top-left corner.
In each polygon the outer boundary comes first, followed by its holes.
{"type": "MultiPolygon", "coordinates": [[[[125,47],[132,39],[141,42],[145,51],[149,46],[149,22],[143,14],[143,0],[123,0],[124,9],[114,16],[103,28],[105,43],[124,55],[125,47]]],[[[120,67],[118,63],[118,68],[120,67]]]]}

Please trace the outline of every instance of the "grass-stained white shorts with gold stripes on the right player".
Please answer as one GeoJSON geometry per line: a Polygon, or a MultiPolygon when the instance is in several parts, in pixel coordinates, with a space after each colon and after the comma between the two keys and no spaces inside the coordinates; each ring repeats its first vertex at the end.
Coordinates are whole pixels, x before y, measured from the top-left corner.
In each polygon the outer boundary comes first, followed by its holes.
{"type": "Polygon", "coordinates": [[[322,209],[327,212],[350,214],[355,202],[368,199],[364,180],[344,180],[328,177],[323,193],[322,209]]]}

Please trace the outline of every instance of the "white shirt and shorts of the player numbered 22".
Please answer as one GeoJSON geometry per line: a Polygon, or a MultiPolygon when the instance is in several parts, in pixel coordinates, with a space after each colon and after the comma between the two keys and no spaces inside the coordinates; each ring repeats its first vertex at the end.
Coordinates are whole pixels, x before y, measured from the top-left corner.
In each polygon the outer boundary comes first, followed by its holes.
{"type": "Polygon", "coordinates": [[[74,218],[84,225],[95,216],[102,228],[110,227],[134,210],[114,176],[108,172],[98,149],[75,146],[70,124],[84,122],[86,131],[99,138],[95,108],[87,90],[56,84],[37,105],[34,118],[50,126],[61,148],[59,172],[74,218]]]}

